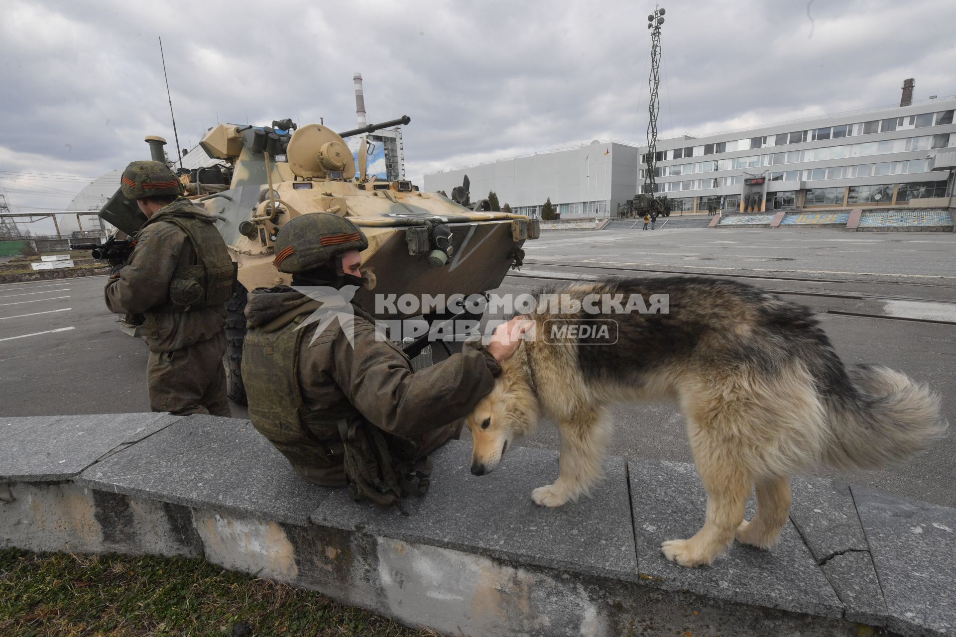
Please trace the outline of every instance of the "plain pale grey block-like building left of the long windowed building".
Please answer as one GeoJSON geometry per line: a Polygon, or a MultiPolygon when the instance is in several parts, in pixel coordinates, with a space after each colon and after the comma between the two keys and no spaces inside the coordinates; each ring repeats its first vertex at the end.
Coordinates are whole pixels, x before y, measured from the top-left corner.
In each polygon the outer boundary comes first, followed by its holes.
{"type": "Polygon", "coordinates": [[[595,140],[426,174],[424,190],[450,194],[467,175],[471,201],[494,191],[502,205],[508,203],[512,211],[534,218],[541,216],[548,199],[561,219],[608,217],[637,192],[638,154],[632,144],[595,140]]]}

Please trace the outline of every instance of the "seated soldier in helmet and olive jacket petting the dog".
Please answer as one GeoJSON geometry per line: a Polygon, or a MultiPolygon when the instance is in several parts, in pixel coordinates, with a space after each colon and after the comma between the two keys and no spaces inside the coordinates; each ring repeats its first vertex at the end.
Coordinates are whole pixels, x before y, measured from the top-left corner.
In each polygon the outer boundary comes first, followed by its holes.
{"type": "MultiPolygon", "coordinates": [[[[350,301],[346,292],[366,284],[359,271],[366,247],[349,220],[302,215],[279,230],[274,264],[293,275],[295,287],[354,286],[341,294],[350,301]]],[[[524,327],[512,319],[487,349],[466,348],[412,372],[408,356],[364,308],[351,303],[344,321],[327,325],[307,321],[321,307],[293,287],[250,293],[242,377],[253,426],[302,478],[348,485],[354,499],[392,504],[424,492],[428,454],[458,437],[460,418],[491,392],[524,327]]]]}

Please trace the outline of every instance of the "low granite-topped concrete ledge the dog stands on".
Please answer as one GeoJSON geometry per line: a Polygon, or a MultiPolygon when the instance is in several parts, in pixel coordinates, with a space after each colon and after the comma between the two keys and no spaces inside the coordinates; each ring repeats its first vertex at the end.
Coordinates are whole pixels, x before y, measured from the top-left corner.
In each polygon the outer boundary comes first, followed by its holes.
{"type": "MultiPolygon", "coordinates": [[[[489,476],[435,457],[402,507],[298,478],[247,420],[0,418],[0,546],[205,556],[447,635],[956,634],[956,511],[796,478],[771,551],[684,569],[692,465],[608,457],[592,498],[534,505],[557,454],[515,448],[489,476]]],[[[752,506],[750,508],[752,513],[752,506]]]]}

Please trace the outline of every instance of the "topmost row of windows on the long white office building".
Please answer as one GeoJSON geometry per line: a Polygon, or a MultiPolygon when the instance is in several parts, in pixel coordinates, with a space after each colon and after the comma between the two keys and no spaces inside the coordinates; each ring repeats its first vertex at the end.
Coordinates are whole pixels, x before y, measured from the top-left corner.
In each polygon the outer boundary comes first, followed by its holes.
{"type": "MultiPolygon", "coordinates": [[[[945,124],[951,123],[953,123],[953,111],[951,110],[939,111],[937,113],[923,113],[922,115],[911,115],[907,117],[873,119],[871,121],[861,121],[856,124],[824,126],[822,128],[813,128],[807,131],[794,131],[793,133],[765,135],[756,138],[735,139],[733,141],[717,141],[711,144],[701,144],[700,146],[686,146],[684,148],[658,151],[655,154],[655,160],[663,161],[666,159],[703,157],[706,155],[733,153],[736,151],[750,150],[753,148],[785,146],[787,144],[797,144],[804,141],[850,138],[857,137],[859,135],[873,135],[876,133],[889,133],[892,131],[926,128],[929,126],[943,126],[945,124]]],[[[641,154],[641,163],[647,163],[646,153],[641,154]]]]}

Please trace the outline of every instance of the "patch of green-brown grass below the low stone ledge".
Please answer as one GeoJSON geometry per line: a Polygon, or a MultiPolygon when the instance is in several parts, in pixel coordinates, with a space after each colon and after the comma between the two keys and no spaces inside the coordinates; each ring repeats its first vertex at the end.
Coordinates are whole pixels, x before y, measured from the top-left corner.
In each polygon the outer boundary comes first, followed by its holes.
{"type": "Polygon", "coordinates": [[[425,637],[315,592],[203,560],[0,550],[0,635],[425,637]]]}

